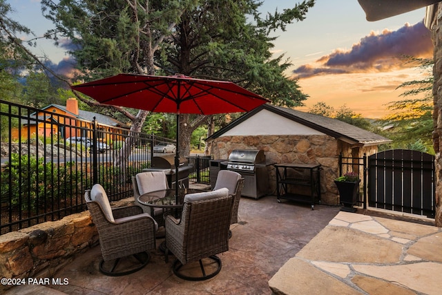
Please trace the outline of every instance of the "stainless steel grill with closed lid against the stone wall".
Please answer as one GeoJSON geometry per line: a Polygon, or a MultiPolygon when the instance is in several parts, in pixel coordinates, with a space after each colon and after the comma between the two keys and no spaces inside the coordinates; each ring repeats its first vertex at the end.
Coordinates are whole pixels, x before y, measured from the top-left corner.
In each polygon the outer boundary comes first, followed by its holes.
{"type": "Polygon", "coordinates": [[[267,163],[262,150],[233,150],[229,155],[227,170],[236,171],[244,178],[242,196],[258,198],[268,189],[267,163]]]}

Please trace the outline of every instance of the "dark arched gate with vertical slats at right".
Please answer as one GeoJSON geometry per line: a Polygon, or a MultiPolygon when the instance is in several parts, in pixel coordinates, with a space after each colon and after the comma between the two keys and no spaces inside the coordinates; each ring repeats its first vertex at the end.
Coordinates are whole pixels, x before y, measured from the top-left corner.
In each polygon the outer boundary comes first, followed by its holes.
{"type": "Polygon", "coordinates": [[[434,156],[394,149],[368,157],[368,205],[434,218],[434,156]]]}

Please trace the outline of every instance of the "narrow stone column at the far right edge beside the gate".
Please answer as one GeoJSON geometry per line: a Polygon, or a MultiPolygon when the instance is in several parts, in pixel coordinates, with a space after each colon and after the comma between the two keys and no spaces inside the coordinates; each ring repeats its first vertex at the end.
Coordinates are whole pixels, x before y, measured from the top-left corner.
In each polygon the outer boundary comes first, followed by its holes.
{"type": "Polygon", "coordinates": [[[434,85],[433,85],[433,146],[436,152],[436,226],[442,227],[442,5],[437,4],[434,14],[436,19],[431,23],[432,40],[434,45],[434,85]]]}

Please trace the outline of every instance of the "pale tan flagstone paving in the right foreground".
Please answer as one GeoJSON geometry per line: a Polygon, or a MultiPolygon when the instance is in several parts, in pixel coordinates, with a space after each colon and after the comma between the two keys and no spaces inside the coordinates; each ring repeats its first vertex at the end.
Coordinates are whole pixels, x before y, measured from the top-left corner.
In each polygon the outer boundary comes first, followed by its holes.
{"type": "Polygon", "coordinates": [[[277,294],[441,294],[442,232],[340,211],[269,281],[277,294]]]}

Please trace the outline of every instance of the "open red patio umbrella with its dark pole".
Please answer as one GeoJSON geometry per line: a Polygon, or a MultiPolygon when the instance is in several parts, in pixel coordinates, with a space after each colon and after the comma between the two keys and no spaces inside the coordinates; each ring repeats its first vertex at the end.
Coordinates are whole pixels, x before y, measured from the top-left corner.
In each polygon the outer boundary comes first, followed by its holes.
{"type": "Polygon", "coordinates": [[[213,115],[247,112],[269,102],[268,99],[233,82],[195,79],[184,75],[119,74],[71,88],[93,97],[102,104],[177,115],[176,195],[180,163],[180,113],[213,115]]]}

